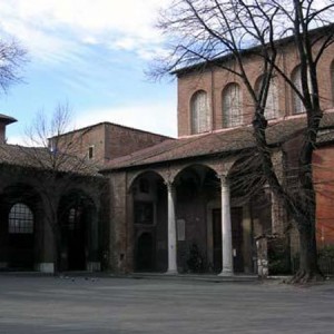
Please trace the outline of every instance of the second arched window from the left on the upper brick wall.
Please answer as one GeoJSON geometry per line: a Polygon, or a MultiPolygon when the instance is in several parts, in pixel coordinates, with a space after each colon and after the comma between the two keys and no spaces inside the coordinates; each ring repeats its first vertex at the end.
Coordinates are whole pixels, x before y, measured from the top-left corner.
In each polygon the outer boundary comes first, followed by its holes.
{"type": "Polygon", "coordinates": [[[229,84],[222,94],[223,127],[236,127],[243,124],[242,94],[239,85],[229,84]]]}

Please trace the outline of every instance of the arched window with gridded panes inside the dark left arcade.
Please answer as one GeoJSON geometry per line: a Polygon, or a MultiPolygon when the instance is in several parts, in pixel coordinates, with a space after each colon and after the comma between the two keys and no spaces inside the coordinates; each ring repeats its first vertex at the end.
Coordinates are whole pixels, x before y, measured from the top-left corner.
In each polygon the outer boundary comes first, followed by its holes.
{"type": "Polygon", "coordinates": [[[11,234],[33,233],[33,215],[23,203],[14,204],[9,212],[8,232],[11,234]]]}

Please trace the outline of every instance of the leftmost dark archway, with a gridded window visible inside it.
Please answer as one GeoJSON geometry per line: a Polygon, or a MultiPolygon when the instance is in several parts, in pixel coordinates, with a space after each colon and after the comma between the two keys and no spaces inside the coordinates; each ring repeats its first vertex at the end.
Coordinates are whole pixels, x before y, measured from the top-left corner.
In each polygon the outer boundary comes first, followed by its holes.
{"type": "Polygon", "coordinates": [[[33,269],[40,261],[41,202],[24,184],[4,189],[0,196],[0,264],[7,269],[33,269]]]}

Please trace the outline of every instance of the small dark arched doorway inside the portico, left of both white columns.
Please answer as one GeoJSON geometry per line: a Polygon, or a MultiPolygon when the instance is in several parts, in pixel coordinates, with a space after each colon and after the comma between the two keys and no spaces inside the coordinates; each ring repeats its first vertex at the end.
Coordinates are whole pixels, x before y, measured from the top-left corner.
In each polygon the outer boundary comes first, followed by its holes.
{"type": "Polygon", "coordinates": [[[154,269],[154,238],[150,233],[143,233],[137,239],[136,265],[138,272],[154,269]]]}

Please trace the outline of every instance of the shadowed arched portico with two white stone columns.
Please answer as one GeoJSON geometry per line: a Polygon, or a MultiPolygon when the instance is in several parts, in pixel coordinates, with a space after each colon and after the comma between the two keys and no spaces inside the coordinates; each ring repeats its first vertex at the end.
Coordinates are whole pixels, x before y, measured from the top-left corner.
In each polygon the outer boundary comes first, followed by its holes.
{"type": "Polygon", "coordinates": [[[136,174],[129,191],[132,268],[170,274],[254,273],[255,229],[269,217],[254,205],[268,202],[258,166],[247,159],[157,168],[164,177],[153,170],[136,174]],[[254,179],[246,166],[254,169],[254,179]]]}

